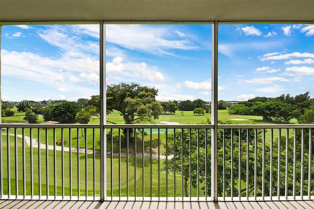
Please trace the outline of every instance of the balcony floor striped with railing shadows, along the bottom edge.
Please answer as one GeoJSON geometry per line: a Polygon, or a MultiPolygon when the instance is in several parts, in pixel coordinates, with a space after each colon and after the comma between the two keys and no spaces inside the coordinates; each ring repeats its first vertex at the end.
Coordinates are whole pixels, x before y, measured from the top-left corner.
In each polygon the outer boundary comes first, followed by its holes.
{"type": "Polygon", "coordinates": [[[0,200],[0,209],[314,209],[314,200],[259,202],[98,202],[0,200]]]}

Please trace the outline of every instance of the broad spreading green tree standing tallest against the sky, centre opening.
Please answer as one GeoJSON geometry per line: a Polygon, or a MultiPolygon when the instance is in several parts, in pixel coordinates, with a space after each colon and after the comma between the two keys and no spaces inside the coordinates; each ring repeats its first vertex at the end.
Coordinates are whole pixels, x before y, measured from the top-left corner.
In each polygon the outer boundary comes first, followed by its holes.
{"type": "MultiPolygon", "coordinates": [[[[162,113],[162,106],[156,100],[158,90],[137,83],[119,83],[107,86],[106,102],[108,110],[121,112],[126,124],[136,121],[150,121],[158,119],[162,113]]],[[[127,129],[123,130],[127,136],[127,129]]],[[[129,130],[131,134],[131,131],[129,130]]],[[[131,140],[131,135],[127,136],[131,140]]]]}

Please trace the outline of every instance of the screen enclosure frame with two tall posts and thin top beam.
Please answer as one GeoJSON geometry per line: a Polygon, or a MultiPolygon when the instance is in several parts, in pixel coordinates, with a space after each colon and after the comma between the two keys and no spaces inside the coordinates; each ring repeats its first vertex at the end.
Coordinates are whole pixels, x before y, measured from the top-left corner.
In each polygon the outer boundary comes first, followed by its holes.
{"type": "MultiPolygon", "coordinates": [[[[217,170],[217,160],[218,160],[218,144],[217,144],[217,134],[218,134],[218,26],[225,24],[314,24],[314,21],[200,21],[200,22],[185,22],[185,21],[63,21],[63,22],[0,22],[0,26],[5,25],[78,25],[78,24],[94,24],[99,25],[100,29],[100,48],[99,48],[99,75],[100,75],[100,153],[101,153],[101,201],[106,201],[106,128],[114,126],[106,126],[106,54],[105,54],[105,26],[109,24],[142,24],[142,25],[176,25],[176,24],[199,24],[199,25],[211,25],[211,198],[213,201],[218,201],[218,170],[217,170]]],[[[313,126],[308,126],[312,128],[313,126]]]]}

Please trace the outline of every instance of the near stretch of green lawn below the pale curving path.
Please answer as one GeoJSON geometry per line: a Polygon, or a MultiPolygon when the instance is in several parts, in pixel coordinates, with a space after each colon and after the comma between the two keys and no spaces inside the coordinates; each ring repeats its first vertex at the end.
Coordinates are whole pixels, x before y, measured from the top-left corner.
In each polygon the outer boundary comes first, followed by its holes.
{"type": "MultiPolygon", "coordinates": [[[[26,195],[37,196],[40,194],[42,196],[47,195],[47,182],[49,189],[49,196],[56,194],[61,196],[70,196],[70,191],[73,196],[78,196],[78,189],[80,191],[80,196],[86,195],[85,189],[85,179],[87,179],[87,195],[93,196],[94,192],[96,196],[100,196],[100,156],[99,155],[87,155],[84,154],[78,155],[72,153],[72,158],[70,158],[69,152],[62,153],[56,151],[55,154],[53,150],[48,151],[48,161],[46,159],[46,150],[41,150],[38,153],[37,148],[32,149],[33,157],[30,158],[31,150],[29,146],[25,147],[23,151],[22,140],[18,138],[15,142],[13,136],[10,137],[9,142],[7,137],[2,137],[2,153],[8,152],[8,143],[9,143],[9,157],[10,165],[7,164],[7,155],[2,155],[2,178],[3,178],[3,194],[8,194],[8,185],[10,184],[10,194],[15,195],[15,185],[18,183],[18,194],[23,195],[24,191],[26,195]],[[15,146],[17,145],[17,146],[15,146]],[[16,153],[15,153],[16,152],[16,153]],[[23,155],[24,153],[24,155],[23,155]],[[16,155],[17,154],[17,155],[16,155]],[[40,155],[40,156],[39,156],[40,155]],[[95,157],[95,161],[94,161],[95,157]],[[40,162],[39,160],[40,159],[40,162]],[[70,165],[70,159],[71,165],[70,165]],[[55,162],[55,168],[54,168],[55,162]],[[25,173],[23,172],[23,164],[25,163],[25,173]],[[47,166],[48,164],[48,173],[47,166]],[[95,173],[93,170],[95,164],[95,173]],[[62,166],[63,165],[63,166],[62,166]],[[8,166],[10,173],[8,173],[8,166]],[[31,172],[31,166],[32,172],[31,172]],[[87,168],[87,173],[85,171],[87,168]],[[63,172],[62,172],[63,171],[63,172]],[[17,173],[16,173],[17,172],[17,173]],[[70,173],[71,172],[71,173],[70,173]],[[79,175],[78,175],[79,173],[79,175]],[[10,176],[9,176],[10,174],[10,176]],[[32,174],[32,177],[31,177],[32,174]],[[18,176],[16,181],[15,176],[18,176]],[[95,182],[94,182],[95,175],[95,182]],[[25,176],[25,182],[24,182],[25,176]],[[64,182],[62,183],[62,176],[64,182]],[[78,178],[79,176],[79,178],[78,178]],[[33,178],[31,184],[31,178],[33,178]],[[48,181],[47,181],[48,178],[48,181]],[[9,179],[9,181],[8,181],[9,179]],[[79,180],[78,180],[79,179],[79,180]],[[26,187],[23,188],[23,184],[26,184],[26,187]],[[70,188],[70,183],[71,188],[70,188]],[[32,186],[31,186],[32,185],[32,186]],[[40,185],[40,188],[39,188],[40,185]],[[62,186],[63,185],[63,186],[62,186]],[[94,190],[95,186],[95,190],[94,190]],[[32,188],[32,189],[31,189],[32,188]],[[25,189],[25,190],[24,190],[25,189]]],[[[136,176],[135,176],[135,161],[134,157],[112,157],[109,155],[107,157],[107,196],[129,196],[135,195],[135,185],[136,185],[136,196],[141,197],[166,197],[174,195],[174,174],[166,173],[163,169],[163,160],[159,162],[157,159],[145,158],[143,166],[143,158],[136,158],[136,176]],[[119,163],[120,162],[120,163],[119,163]],[[119,166],[120,164],[120,166],[119,166]],[[128,173],[127,173],[127,165],[128,173]],[[158,166],[159,165],[159,166],[158,166]],[[110,170],[112,167],[113,173],[111,174],[110,170]],[[120,173],[119,173],[120,171],[120,173]],[[128,175],[127,175],[128,174],[128,175]],[[112,179],[112,181],[111,181],[112,179]],[[144,181],[144,186],[143,186],[144,181]],[[129,187],[127,187],[127,182],[129,187]],[[112,185],[111,185],[112,183],[112,185]],[[119,183],[121,183],[119,187],[119,183]],[[144,188],[144,190],[143,190],[144,188]],[[152,192],[152,194],[151,194],[152,192]]],[[[181,175],[176,174],[176,196],[181,196],[181,175]]],[[[192,189],[191,195],[195,196],[197,191],[192,189]]],[[[202,195],[201,195],[202,196],[202,195]]]]}

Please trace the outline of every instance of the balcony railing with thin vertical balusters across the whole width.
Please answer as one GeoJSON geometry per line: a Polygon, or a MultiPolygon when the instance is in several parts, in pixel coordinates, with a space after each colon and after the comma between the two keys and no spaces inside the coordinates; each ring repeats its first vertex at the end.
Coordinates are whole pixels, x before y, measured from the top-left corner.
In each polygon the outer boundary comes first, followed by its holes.
{"type": "Polygon", "coordinates": [[[0,127],[1,199],[314,200],[314,125],[0,127]]]}

